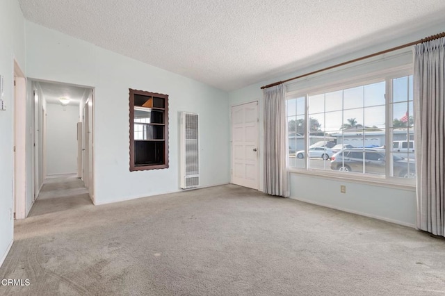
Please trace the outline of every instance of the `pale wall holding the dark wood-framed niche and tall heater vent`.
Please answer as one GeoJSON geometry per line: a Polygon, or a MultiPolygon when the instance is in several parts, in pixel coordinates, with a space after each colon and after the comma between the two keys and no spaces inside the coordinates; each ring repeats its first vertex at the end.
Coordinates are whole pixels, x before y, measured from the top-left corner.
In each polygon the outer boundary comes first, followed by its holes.
{"type": "Polygon", "coordinates": [[[201,185],[229,182],[228,94],[26,22],[28,75],[95,88],[95,202],[179,189],[179,112],[200,114],[201,185]],[[170,167],[129,171],[129,88],[169,95],[170,167]]]}

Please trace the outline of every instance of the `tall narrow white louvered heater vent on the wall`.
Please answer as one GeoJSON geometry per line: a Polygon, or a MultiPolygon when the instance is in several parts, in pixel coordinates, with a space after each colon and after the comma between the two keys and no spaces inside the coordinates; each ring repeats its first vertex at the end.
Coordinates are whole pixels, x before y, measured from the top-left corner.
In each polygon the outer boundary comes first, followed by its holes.
{"type": "Polygon", "coordinates": [[[181,188],[200,186],[198,115],[181,113],[181,188]]]}

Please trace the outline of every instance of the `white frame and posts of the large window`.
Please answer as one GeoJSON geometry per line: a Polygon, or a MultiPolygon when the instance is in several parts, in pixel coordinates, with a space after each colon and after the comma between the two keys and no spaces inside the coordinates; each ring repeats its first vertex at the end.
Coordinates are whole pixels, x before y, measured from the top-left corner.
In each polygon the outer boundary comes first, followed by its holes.
{"type": "MultiPolygon", "coordinates": [[[[341,71],[341,69],[339,70],[341,71]]],[[[290,99],[296,99],[299,97],[305,97],[305,122],[309,122],[309,96],[314,96],[316,94],[325,94],[327,92],[335,92],[338,90],[345,90],[348,88],[355,88],[362,85],[368,85],[371,83],[376,83],[378,81],[385,81],[385,141],[391,143],[391,145],[385,145],[385,154],[392,155],[392,143],[393,143],[393,133],[392,133],[392,79],[397,79],[403,76],[410,76],[413,74],[412,64],[407,64],[399,67],[392,67],[389,69],[379,70],[371,73],[366,73],[360,76],[356,76],[351,79],[342,79],[341,81],[330,81],[330,83],[324,83],[321,85],[315,85],[310,88],[303,88],[301,90],[286,92],[286,101],[290,99]]],[[[343,110],[343,109],[342,109],[343,110]]],[[[287,110],[286,110],[287,112],[287,110]]],[[[413,116],[415,115],[415,110],[413,110],[413,116]]],[[[287,126],[287,115],[286,115],[286,134],[289,135],[287,126]]],[[[414,128],[414,133],[416,132],[414,128]]],[[[309,151],[309,124],[305,124],[305,156],[308,155],[309,151]]],[[[286,152],[286,160],[289,160],[289,149],[286,152]]],[[[287,163],[287,171],[296,174],[307,174],[316,175],[323,178],[329,179],[341,179],[348,181],[358,181],[360,183],[378,183],[384,186],[394,187],[394,188],[415,188],[415,179],[404,179],[397,176],[391,176],[392,173],[392,160],[391,165],[385,165],[385,175],[377,174],[366,174],[358,172],[337,172],[335,170],[325,170],[317,168],[308,167],[308,157],[304,158],[305,167],[291,167],[289,161],[287,163]]]]}

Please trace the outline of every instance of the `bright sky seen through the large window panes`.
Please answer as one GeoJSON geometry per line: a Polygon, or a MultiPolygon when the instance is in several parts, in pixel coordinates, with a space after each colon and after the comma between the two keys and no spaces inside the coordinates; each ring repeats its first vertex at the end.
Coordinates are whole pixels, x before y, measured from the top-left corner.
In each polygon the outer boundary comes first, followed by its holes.
{"type": "MultiPolygon", "coordinates": [[[[318,122],[319,130],[328,133],[354,126],[385,129],[385,92],[385,81],[380,81],[345,90],[309,95],[309,117],[318,122]],[[348,120],[353,120],[352,124],[348,120]]],[[[393,79],[392,101],[393,120],[403,120],[406,114],[412,116],[412,76],[393,79]]],[[[302,124],[305,120],[305,97],[287,101],[287,116],[289,120],[296,120],[302,124]]]]}

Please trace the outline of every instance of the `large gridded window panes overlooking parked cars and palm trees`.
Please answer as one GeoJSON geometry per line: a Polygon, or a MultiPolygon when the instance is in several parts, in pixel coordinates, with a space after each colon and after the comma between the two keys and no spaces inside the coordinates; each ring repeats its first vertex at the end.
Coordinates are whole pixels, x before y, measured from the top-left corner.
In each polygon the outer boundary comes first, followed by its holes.
{"type": "Polygon", "coordinates": [[[286,101],[289,168],[412,178],[412,109],[410,75],[292,95],[286,101]]]}

